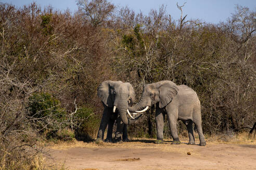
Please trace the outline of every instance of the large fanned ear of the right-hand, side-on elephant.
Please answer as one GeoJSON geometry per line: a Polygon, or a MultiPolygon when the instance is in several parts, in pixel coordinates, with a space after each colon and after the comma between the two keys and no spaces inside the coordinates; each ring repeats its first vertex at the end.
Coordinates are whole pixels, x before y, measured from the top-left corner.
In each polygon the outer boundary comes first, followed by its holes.
{"type": "Polygon", "coordinates": [[[173,97],[178,93],[178,87],[175,83],[164,83],[159,87],[159,107],[168,105],[173,97]]]}

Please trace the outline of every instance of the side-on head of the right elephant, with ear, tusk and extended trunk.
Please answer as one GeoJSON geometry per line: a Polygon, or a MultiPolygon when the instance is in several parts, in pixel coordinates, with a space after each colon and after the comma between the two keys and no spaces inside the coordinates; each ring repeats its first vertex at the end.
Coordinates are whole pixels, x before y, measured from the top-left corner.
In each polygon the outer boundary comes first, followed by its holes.
{"type": "Polygon", "coordinates": [[[159,102],[159,107],[163,108],[172,101],[178,93],[177,85],[172,81],[159,81],[157,83],[146,84],[139,102],[129,107],[130,111],[144,112],[151,105],[159,102]],[[143,110],[142,110],[143,109],[143,110]],[[137,111],[141,110],[141,111],[137,111]]]}

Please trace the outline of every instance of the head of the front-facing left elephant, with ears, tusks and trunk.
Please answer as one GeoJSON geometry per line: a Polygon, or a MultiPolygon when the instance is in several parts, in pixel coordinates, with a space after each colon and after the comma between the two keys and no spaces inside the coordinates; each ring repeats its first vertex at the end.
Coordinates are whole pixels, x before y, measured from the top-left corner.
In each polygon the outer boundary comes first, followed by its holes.
{"type": "Polygon", "coordinates": [[[104,81],[99,85],[97,95],[107,107],[113,108],[113,112],[119,112],[124,124],[131,124],[137,120],[138,117],[135,120],[126,117],[126,113],[131,117],[128,107],[132,106],[135,100],[135,93],[129,82],[104,81]]]}

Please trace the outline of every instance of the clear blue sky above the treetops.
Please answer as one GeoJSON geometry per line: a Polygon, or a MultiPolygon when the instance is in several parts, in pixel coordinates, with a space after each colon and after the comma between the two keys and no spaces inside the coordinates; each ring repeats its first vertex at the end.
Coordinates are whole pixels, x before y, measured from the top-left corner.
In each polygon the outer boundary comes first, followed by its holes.
{"type": "MultiPolygon", "coordinates": [[[[0,0],[0,2],[21,7],[30,4],[33,0],[0,0]]],[[[71,11],[75,11],[78,9],[76,0],[34,0],[34,2],[42,7],[52,5],[60,10],[69,8],[71,11]]],[[[255,0],[109,0],[109,2],[119,7],[128,6],[135,12],[142,11],[145,14],[150,9],[158,9],[164,4],[167,5],[167,12],[173,19],[180,18],[180,11],[177,9],[176,3],[182,5],[187,2],[183,7],[183,13],[187,14],[187,19],[200,19],[210,23],[226,21],[228,17],[231,17],[231,13],[235,12],[236,4],[256,10],[255,0]]]]}

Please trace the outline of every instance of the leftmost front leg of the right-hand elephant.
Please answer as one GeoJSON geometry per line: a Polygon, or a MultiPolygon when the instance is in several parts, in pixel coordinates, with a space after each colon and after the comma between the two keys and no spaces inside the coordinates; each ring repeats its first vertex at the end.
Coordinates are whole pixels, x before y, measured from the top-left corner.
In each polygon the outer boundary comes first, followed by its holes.
{"type": "Polygon", "coordinates": [[[157,141],[155,143],[163,143],[163,126],[164,126],[164,117],[162,109],[156,109],[156,124],[157,124],[157,141]]]}

